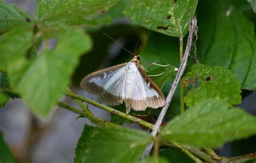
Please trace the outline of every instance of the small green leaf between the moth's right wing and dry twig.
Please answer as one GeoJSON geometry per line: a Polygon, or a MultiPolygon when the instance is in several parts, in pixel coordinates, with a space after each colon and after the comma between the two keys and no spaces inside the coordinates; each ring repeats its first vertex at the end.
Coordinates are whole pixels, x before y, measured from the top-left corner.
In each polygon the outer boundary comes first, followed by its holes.
{"type": "Polygon", "coordinates": [[[165,67],[158,67],[149,73],[148,75],[159,75],[159,76],[150,76],[154,82],[162,89],[164,87],[165,82],[174,74],[176,74],[178,69],[174,66],[165,66],[165,67]],[[162,74],[163,73],[163,74],[162,74]],[[161,75],[160,75],[161,74],[161,75]]]}

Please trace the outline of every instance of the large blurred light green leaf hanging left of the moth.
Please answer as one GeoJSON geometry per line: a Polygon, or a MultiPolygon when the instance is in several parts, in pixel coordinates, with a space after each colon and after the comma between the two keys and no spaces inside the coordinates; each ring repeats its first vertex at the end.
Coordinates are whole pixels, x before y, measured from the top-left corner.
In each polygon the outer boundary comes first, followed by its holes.
{"type": "Polygon", "coordinates": [[[36,59],[18,60],[9,70],[12,88],[41,117],[49,116],[68,86],[79,56],[91,49],[91,39],[82,30],[65,25],[54,29],[46,30],[50,31],[46,35],[52,34],[56,47],[44,49],[36,59]]]}

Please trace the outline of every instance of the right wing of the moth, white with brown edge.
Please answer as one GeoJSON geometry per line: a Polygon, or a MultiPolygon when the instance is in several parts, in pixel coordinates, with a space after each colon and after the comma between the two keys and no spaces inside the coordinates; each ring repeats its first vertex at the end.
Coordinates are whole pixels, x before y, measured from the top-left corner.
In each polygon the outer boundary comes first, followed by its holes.
{"type": "Polygon", "coordinates": [[[128,103],[134,110],[145,110],[147,107],[156,109],[165,105],[165,96],[157,84],[138,65],[134,73],[132,89],[126,97],[128,103]]]}

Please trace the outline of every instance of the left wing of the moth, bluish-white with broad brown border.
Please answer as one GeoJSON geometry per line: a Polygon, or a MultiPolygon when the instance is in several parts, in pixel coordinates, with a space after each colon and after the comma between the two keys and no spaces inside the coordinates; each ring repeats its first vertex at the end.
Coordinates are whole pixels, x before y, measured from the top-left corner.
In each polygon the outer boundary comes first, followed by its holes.
{"type": "Polygon", "coordinates": [[[100,95],[109,105],[118,105],[124,101],[125,66],[127,63],[108,67],[84,77],[80,87],[92,94],[100,95]]]}

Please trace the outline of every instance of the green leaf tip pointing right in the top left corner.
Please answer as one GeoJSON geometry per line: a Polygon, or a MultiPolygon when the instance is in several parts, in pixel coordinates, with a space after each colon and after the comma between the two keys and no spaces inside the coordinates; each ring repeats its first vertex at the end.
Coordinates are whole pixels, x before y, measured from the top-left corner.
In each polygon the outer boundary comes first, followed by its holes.
{"type": "Polygon", "coordinates": [[[29,13],[19,9],[14,4],[0,0],[0,33],[16,26],[21,27],[21,25],[29,24],[31,21],[32,17],[29,13]]]}

